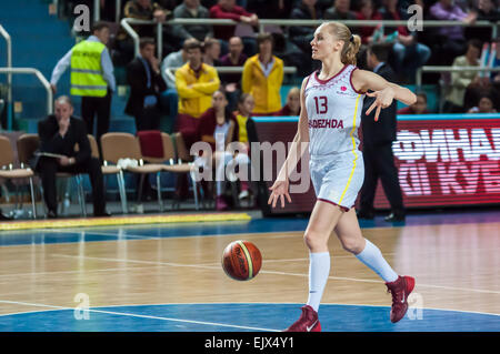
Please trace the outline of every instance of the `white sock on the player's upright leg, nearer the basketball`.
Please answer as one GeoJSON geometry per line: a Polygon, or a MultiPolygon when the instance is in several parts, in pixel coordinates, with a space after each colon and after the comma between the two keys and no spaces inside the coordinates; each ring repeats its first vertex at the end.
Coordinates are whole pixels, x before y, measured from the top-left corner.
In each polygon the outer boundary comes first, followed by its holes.
{"type": "Polygon", "coordinates": [[[316,312],[318,312],[328,275],[330,275],[330,252],[309,253],[308,305],[316,312]]]}

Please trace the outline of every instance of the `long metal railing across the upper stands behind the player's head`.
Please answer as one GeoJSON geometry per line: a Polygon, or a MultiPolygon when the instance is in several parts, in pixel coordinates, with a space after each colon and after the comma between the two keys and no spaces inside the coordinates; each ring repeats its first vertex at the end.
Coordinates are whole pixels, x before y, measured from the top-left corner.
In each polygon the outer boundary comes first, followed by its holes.
{"type": "MultiPolygon", "coordinates": [[[[282,20],[282,19],[262,19],[259,20],[259,32],[263,32],[266,30],[267,26],[283,26],[283,27],[291,27],[291,26],[307,26],[307,27],[313,27],[313,26],[320,26],[323,22],[327,22],[328,20],[282,20]]],[[[382,26],[389,26],[389,27],[396,27],[396,26],[408,26],[412,24],[416,26],[416,22],[413,20],[407,20],[407,21],[394,21],[394,20],[383,20],[383,21],[374,21],[374,20],[339,20],[337,22],[344,23],[348,27],[378,27],[379,24],[382,26]]],[[[136,55],[139,53],[139,34],[133,30],[133,28],[130,24],[156,24],[158,27],[157,29],[157,42],[162,42],[162,29],[163,26],[172,26],[172,24],[212,24],[212,26],[237,26],[241,24],[240,22],[233,21],[233,20],[226,20],[226,19],[173,19],[164,22],[158,22],[154,20],[138,20],[133,18],[124,18],[120,21],[121,27],[127,31],[127,33],[132,38],[134,43],[134,50],[136,55]]],[[[249,26],[249,24],[247,24],[249,26]]],[[[422,21],[422,28],[423,27],[490,27],[491,28],[491,36],[492,38],[496,38],[498,34],[498,27],[500,26],[500,21],[497,23],[489,22],[489,21],[476,21],[474,23],[466,23],[462,21],[438,21],[438,20],[424,20],[422,21]]],[[[162,45],[158,47],[158,57],[161,58],[162,55],[162,45]]]]}

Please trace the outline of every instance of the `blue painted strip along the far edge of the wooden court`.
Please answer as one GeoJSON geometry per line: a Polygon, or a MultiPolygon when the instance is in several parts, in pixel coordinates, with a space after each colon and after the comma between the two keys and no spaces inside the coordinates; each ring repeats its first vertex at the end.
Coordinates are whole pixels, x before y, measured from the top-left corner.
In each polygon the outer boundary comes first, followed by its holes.
{"type": "MultiPolygon", "coordinates": [[[[118,240],[141,240],[161,237],[189,237],[206,235],[228,235],[269,232],[304,231],[308,218],[268,218],[251,221],[202,222],[202,223],[172,223],[156,224],[151,226],[126,227],[87,227],[59,229],[40,231],[6,231],[0,232],[0,246],[97,242],[118,240]]],[[[406,222],[388,223],[383,216],[374,220],[360,220],[362,229],[370,227],[401,227],[412,225],[440,225],[500,222],[499,211],[448,212],[408,215],[406,222]]]]}

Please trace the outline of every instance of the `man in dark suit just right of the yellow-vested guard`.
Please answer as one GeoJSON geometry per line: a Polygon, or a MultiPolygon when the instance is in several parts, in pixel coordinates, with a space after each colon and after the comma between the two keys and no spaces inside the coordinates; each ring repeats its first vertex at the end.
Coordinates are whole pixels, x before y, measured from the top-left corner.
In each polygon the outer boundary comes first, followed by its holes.
{"type": "Polygon", "coordinates": [[[136,118],[137,131],[160,128],[159,98],[160,92],[167,90],[167,84],[161,77],[160,62],[154,57],[154,48],[153,39],[141,39],[140,55],[127,65],[130,97],[126,113],[136,118]]]}

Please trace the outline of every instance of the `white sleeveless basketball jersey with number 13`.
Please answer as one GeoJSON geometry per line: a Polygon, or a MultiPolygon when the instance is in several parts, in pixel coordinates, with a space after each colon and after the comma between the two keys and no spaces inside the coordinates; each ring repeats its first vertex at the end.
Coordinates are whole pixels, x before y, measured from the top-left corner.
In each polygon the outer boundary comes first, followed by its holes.
{"type": "Polygon", "coordinates": [[[320,80],[319,71],[309,75],[304,98],[311,156],[358,150],[364,94],[352,87],[356,69],[348,64],[329,80],[320,80]]]}

